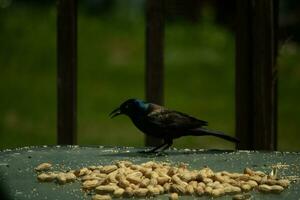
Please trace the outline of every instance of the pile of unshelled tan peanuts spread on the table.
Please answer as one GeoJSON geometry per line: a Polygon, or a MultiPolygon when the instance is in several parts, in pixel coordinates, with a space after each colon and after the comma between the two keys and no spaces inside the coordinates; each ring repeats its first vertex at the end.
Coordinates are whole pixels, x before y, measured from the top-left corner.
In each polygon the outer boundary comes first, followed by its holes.
{"type": "MultiPolygon", "coordinates": [[[[45,172],[49,169],[49,163],[36,167],[39,181],[65,184],[79,180],[84,191],[94,194],[93,200],[123,196],[151,197],[165,193],[169,193],[169,198],[173,200],[178,199],[179,195],[219,197],[253,189],[280,193],[290,184],[287,179],[279,179],[276,175],[267,175],[249,168],[244,173],[214,172],[208,167],[189,170],[185,164],[172,166],[153,161],[139,165],[130,161],[118,161],[112,165],[89,166],[69,172],[45,172]]],[[[239,196],[241,195],[234,199],[239,196]]]]}

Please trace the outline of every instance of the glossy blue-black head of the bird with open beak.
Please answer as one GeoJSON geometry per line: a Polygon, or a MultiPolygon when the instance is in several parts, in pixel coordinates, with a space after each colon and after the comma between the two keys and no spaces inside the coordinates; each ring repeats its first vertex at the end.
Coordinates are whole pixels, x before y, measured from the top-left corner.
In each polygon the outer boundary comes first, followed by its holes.
{"type": "Polygon", "coordinates": [[[116,108],[110,113],[111,118],[118,115],[127,115],[129,117],[135,117],[145,114],[149,108],[149,103],[140,99],[128,99],[123,102],[119,108],[116,108]]]}

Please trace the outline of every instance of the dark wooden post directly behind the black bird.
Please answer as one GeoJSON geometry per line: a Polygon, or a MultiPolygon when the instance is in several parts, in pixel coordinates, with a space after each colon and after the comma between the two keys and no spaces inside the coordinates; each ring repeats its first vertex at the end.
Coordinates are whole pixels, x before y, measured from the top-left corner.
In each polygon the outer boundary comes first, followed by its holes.
{"type": "MultiPolygon", "coordinates": [[[[146,100],[164,103],[164,0],[146,1],[146,100]]],[[[146,136],[147,146],[161,140],[146,136]]]]}

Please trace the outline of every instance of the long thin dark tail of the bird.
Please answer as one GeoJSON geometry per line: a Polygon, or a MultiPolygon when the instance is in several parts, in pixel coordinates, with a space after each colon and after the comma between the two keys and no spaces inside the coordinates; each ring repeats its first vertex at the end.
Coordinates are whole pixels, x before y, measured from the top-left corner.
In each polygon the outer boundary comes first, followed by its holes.
{"type": "Polygon", "coordinates": [[[228,140],[231,142],[238,143],[240,142],[237,138],[226,135],[225,133],[221,131],[213,131],[213,130],[208,130],[205,128],[197,128],[197,129],[192,129],[187,132],[187,135],[193,135],[193,136],[204,136],[204,135],[210,135],[210,136],[215,136],[222,138],[224,140],[228,140]]]}

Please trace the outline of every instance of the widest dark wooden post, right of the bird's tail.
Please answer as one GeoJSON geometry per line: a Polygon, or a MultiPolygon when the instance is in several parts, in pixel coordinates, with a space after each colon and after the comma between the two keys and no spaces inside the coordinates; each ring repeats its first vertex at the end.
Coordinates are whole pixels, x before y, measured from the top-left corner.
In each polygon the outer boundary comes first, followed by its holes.
{"type": "Polygon", "coordinates": [[[239,149],[277,146],[278,0],[237,1],[236,135],[239,149]]]}

